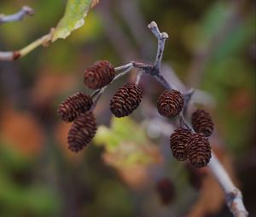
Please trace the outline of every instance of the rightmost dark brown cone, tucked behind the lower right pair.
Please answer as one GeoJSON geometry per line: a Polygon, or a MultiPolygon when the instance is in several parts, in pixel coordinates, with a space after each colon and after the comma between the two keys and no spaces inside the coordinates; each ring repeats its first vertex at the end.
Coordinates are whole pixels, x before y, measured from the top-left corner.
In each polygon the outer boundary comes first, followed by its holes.
{"type": "Polygon", "coordinates": [[[198,109],[192,114],[192,125],[196,133],[210,136],[213,131],[212,117],[207,111],[198,109]]]}

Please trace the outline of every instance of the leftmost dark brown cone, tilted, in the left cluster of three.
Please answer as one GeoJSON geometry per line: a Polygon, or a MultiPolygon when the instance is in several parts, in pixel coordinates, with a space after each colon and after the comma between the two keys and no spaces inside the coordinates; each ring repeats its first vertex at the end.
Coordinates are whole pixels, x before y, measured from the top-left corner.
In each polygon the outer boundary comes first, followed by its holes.
{"type": "Polygon", "coordinates": [[[58,114],[64,122],[73,122],[80,114],[89,111],[91,106],[92,100],[90,96],[78,92],[69,96],[67,100],[61,103],[58,114]]]}

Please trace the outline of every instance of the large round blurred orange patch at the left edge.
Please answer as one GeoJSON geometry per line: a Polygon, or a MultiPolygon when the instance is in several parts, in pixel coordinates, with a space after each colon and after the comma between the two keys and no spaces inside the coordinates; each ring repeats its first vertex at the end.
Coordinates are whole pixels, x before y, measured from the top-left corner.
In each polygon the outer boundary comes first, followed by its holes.
{"type": "Polygon", "coordinates": [[[3,141],[26,155],[35,155],[42,150],[44,134],[40,124],[26,111],[17,111],[11,106],[3,108],[0,131],[3,141]]]}

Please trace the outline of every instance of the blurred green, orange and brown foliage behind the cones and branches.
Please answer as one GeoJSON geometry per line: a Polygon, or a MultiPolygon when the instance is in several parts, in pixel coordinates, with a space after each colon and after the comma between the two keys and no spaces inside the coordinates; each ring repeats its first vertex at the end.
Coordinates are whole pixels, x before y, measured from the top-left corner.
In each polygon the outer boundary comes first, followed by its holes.
{"type": "MultiPolygon", "coordinates": [[[[0,50],[21,49],[49,32],[65,3],[1,0],[0,14],[23,5],[36,14],[1,25],[0,50]]],[[[196,89],[192,100],[216,126],[212,149],[256,216],[255,3],[101,0],[67,40],[0,62],[1,217],[232,216],[207,168],[173,159],[175,120],[157,115],[163,88],[147,75],[143,103],[131,117],[113,118],[108,102],[137,71],[103,94],[95,140],[78,154],[67,149],[70,124],[57,117],[58,105],[77,91],[90,93],[82,75],[96,60],[114,66],[154,62],[157,42],[147,28],[152,20],[169,34],[163,73],[180,89],[196,89]]]]}

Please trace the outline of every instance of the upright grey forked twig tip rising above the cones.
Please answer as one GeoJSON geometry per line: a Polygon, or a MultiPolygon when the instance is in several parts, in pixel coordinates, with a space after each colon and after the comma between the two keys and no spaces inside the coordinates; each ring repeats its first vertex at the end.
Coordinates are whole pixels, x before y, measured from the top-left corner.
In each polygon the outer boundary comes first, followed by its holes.
{"type": "Polygon", "coordinates": [[[160,32],[157,27],[157,24],[154,21],[148,24],[148,28],[152,31],[152,33],[154,34],[154,36],[157,38],[157,41],[158,41],[158,49],[157,49],[157,54],[154,61],[154,66],[158,70],[160,70],[162,57],[165,49],[165,43],[166,43],[166,39],[168,38],[168,34],[166,32],[160,32]]]}

